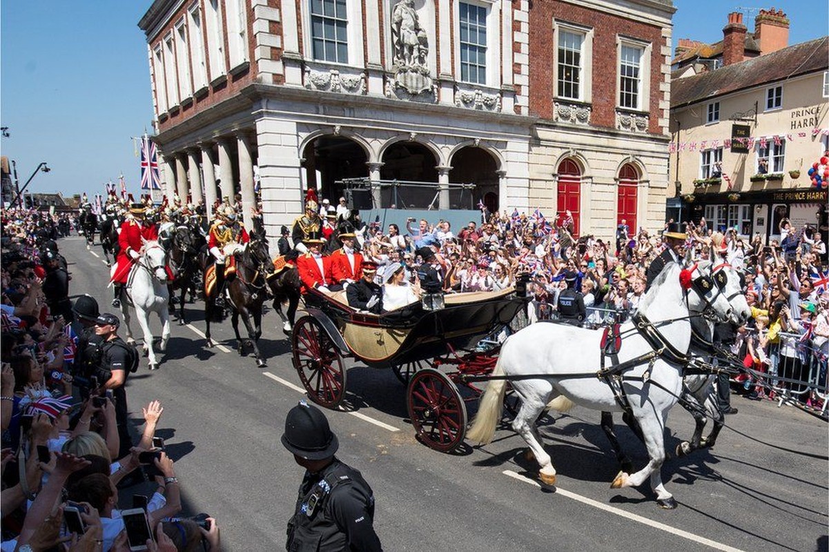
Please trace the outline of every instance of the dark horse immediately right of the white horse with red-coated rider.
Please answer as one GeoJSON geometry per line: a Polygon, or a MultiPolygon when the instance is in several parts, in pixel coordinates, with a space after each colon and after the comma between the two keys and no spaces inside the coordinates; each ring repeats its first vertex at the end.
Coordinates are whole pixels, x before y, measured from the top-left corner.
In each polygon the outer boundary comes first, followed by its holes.
{"type": "Polygon", "coordinates": [[[204,245],[204,238],[197,229],[189,225],[179,225],[172,234],[172,240],[167,249],[169,254],[170,268],[175,279],[167,286],[170,292],[170,307],[175,309],[175,290],[178,290],[178,324],[187,324],[184,313],[184,300],[187,293],[190,293],[191,303],[195,300],[196,294],[201,285],[201,268],[199,265],[199,254],[201,246],[204,245]]]}

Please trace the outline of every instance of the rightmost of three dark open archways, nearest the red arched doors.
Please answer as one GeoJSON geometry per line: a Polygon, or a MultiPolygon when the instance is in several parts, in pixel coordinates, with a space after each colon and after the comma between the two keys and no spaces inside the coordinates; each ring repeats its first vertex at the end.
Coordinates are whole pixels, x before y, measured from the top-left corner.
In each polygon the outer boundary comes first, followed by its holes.
{"type": "Polygon", "coordinates": [[[453,208],[475,209],[478,201],[491,213],[498,211],[498,162],[483,148],[465,146],[458,149],[449,161],[449,182],[453,184],[474,184],[471,190],[451,190],[450,204],[453,208]]]}

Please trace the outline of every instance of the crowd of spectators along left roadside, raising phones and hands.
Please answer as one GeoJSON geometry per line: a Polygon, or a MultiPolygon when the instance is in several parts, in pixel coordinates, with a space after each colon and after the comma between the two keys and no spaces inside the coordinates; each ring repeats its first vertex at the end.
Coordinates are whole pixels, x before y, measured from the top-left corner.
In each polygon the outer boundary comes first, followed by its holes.
{"type": "Polygon", "coordinates": [[[56,244],[63,224],[61,215],[2,211],[0,548],[220,550],[213,518],[176,517],[180,483],[155,435],[162,405],[141,409],[143,431],[130,438],[116,414],[125,399],[112,393],[117,381],[90,378],[91,336],[117,333],[118,319],[89,295],[70,302],[56,244]],[[139,543],[141,523],[152,538],[139,543]]]}

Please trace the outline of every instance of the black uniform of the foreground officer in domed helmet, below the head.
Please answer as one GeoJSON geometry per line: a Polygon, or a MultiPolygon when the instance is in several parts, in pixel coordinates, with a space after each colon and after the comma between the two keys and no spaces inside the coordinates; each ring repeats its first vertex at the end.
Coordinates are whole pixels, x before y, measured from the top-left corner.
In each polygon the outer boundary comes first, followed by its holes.
{"type": "Polygon", "coordinates": [[[371,487],[358,470],[334,457],[321,472],[305,472],[285,547],[289,552],[383,550],[373,522],[371,487]]]}

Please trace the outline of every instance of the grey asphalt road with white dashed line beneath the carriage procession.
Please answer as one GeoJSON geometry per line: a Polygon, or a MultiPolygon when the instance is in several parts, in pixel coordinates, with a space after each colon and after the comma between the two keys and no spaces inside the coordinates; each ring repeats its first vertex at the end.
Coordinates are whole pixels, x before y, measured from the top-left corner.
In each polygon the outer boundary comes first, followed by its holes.
{"type": "MultiPolygon", "coordinates": [[[[76,237],[60,246],[70,293],[91,293],[102,312],[113,311],[99,246],[87,251],[76,237]]],[[[303,398],[289,342],[268,312],[266,368],[235,352],[229,320],[213,327],[224,347],[206,349],[201,308],[187,305],[195,330],[173,322],[160,370],[144,360],[129,378],[129,409],[139,422],[143,404],[162,401],[157,434],[176,461],[187,512],[215,516],[225,550],[284,550],[303,475],[279,443],[285,414],[303,398]]],[[[158,335],[158,320],[153,328],[158,335]]],[[[680,506],[663,511],[647,486],[609,488],[618,466],[598,412],[577,407],[542,419],[559,472],[550,491],[534,482],[537,467],[523,460],[524,443],[510,429],[484,448],[436,453],[415,440],[405,390],[390,370],[349,366],[352,411],[327,414],[337,455],[374,489],[385,550],[827,550],[827,424],[797,409],[734,397],[739,414],[715,448],[665,462],[680,506]]],[[[692,429],[691,416],[675,409],[668,450],[692,429]]],[[[618,434],[642,466],[644,447],[628,429],[618,434]]]]}

